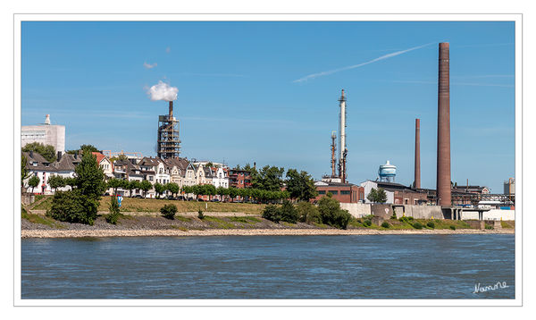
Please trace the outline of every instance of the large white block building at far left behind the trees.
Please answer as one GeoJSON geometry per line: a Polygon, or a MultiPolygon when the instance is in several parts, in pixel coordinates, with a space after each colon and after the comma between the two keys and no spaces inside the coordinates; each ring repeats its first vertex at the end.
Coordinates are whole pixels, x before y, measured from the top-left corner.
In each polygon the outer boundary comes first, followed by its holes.
{"type": "Polygon", "coordinates": [[[38,142],[53,146],[56,152],[65,153],[65,126],[50,124],[50,114],[46,114],[45,123],[23,125],[21,127],[21,147],[38,142]]]}

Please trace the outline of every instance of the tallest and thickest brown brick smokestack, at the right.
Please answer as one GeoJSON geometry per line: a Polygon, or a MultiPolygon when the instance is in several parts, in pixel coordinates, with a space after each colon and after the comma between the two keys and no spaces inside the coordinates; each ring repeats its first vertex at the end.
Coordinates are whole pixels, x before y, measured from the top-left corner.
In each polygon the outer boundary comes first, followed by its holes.
{"type": "Polygon", "coordinates": [[[440,206],[450,206],[450,77],[448,42],[440,43],[438,80],[438,172],[437,195],[440,206]]]}

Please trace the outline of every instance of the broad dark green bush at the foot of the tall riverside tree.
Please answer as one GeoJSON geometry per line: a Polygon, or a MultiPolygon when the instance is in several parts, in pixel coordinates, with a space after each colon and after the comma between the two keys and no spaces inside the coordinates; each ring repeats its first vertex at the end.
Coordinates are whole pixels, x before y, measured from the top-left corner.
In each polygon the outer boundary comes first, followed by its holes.
{"type": "Polygon", "coordinates": [[[98,202],[80,193],[79,189],[57,191],[52,207],[46,216],[67,223],[86,223],[93,225],[96,219],[98,202]]]}

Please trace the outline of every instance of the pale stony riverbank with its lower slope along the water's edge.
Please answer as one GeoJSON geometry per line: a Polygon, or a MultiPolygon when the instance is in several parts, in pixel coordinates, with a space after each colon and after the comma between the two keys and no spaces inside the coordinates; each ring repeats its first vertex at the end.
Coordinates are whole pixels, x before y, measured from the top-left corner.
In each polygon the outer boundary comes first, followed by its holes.
{"type": "Polygon", "coordinates": [[[252,235],[358,235],[358,234],[497,234],[514,233],[515,229],[383,229],[348,226],[339,230],[327,225],[309,223],[272,223],[258,215],[211,214],[204,219],[193,213],[176,215],[168,220],[158,215],[122,215],[117,224],[105,222],[99,216],[94,225],[62,223],[44,215],[21,219],[22,238],[65,237],[154,237],[154,236],[252,236],[252,235]]]}

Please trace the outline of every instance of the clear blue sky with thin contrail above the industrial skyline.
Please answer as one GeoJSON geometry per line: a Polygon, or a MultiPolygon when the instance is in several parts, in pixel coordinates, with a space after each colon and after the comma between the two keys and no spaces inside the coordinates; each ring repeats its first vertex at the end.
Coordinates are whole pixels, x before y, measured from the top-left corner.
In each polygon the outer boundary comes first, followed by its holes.
{"type": "MultiPolygon", "coordinates": [[[[435,189],[438,43],[450,43],[452,181],[515,177],[515,24],[508,21],[42,22],[21,26],[21,124],[65,125],[65,148],[155,156],[147,91],[177,88],[180,156],[331,173],[340,90],[348,181],[389,160],[435,189]]],[[[339,147],[339,146],[338,146],[339,147]]]]}

